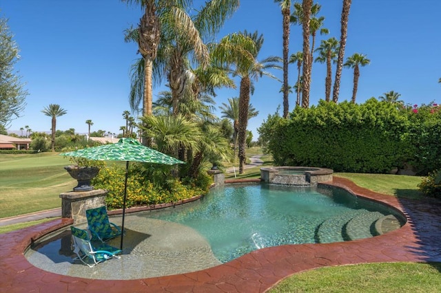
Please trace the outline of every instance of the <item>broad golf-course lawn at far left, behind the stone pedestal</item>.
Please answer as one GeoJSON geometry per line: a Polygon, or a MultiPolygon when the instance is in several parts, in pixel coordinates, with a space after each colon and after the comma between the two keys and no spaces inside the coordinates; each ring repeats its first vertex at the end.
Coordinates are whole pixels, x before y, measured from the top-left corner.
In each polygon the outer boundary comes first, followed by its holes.
{"type": "Polygon", "coordinates": [[[58,153],[0,155],[0,218],[61,207],[59,194],[76,180],[58,153]]]}

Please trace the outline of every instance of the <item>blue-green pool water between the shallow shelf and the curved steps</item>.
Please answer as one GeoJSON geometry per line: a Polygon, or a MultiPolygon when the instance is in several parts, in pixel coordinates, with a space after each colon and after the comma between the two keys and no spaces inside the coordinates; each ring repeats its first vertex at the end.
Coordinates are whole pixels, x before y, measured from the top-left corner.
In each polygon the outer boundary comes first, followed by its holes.
{"type": "Polygon", "coordinates": [[[194,228],[225,263],[269,246],[316,243],[325,219],[360,208],[345,191],[258,184],[214,188],[198,204],[146,217],[194,228]]]}

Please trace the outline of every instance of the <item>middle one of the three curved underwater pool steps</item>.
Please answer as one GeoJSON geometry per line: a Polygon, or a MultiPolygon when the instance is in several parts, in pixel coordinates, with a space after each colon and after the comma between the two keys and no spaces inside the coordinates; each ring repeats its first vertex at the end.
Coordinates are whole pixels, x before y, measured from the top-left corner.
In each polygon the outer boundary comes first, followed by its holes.
{"type": "Polygon", "coordinates": [[[375,226],[376,221],[381,217],[384,217],[384,215],[379,212],[367,212],[356,215],[356,217],[353,217],[347,222],[343,232],[347,235],[348,240],[375,236],[376,233],[373,232],[375,230],[373,226],[375,226]]]}

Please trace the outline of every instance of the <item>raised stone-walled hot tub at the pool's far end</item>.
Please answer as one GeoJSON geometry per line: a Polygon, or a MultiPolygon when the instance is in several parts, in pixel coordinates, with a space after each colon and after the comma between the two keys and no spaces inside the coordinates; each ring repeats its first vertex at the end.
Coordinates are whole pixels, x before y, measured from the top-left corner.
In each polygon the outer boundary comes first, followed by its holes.
{"type": "Polygon", "coordinates": [[[283,185],[317,186],[320,182],[332,181],[331,169],[280,166],[260,168],[260,178],[263,182],[283,185]]]}

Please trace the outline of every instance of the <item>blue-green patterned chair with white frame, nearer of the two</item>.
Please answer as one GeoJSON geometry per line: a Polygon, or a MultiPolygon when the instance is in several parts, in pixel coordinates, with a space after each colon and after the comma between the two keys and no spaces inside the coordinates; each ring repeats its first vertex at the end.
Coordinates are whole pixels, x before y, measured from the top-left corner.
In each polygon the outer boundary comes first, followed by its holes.
{"type": "Polygon", "coordinates": [[[107,261],[107,259],[121,258],[116,255],[119,254],[121,250],[107,243],[99,242],[99,246],[94,246],[92,241],[90,241],[90,233],[88,230],[75,228],[74,226],[70,226],[70,230],[72,231],[72,239],[74,240],[74,252],[78,256],[76,259],[79,259],[90,268],[98,263],[107,261]],[[91,261],[85,261],[86,258],[91,261]]]}

